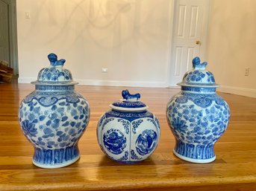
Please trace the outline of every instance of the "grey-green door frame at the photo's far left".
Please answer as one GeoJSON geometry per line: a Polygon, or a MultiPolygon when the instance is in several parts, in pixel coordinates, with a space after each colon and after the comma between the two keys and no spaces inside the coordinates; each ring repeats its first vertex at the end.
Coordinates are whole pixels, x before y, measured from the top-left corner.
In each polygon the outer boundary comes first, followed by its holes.
{"type": "Polygon", "coordinates": [[[13,75],[19,75],[18,62],[18,41],[17,41],[17,18],[16,18],[16,0],[0,0],[8,5],[8,27],[9,27],[9,54],[10,67],[13,68],[13,75]]]}

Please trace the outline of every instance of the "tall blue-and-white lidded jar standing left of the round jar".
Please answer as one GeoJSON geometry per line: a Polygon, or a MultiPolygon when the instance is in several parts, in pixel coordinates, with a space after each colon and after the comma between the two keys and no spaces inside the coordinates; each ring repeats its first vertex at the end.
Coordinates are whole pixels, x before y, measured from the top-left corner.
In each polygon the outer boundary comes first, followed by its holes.
{"type": "Polygon", "coordinates": [[[78,140],[90,118],[87,100],[75,91],[65,59],[49,54],[49,68],[37,77],[35,91],[22,100],[19,124],[34,146],[33,163],[42,168],[58,168],[80,158],[78,140]]]}

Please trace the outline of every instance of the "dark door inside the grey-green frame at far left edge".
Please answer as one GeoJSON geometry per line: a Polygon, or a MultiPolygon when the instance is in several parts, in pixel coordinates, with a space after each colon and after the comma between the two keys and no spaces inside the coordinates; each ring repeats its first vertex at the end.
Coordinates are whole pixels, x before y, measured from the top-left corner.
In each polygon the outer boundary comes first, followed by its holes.
{"type": "Polygon", "coordinates": [[[10,63],[8,4],[0,0],[0,60],[10,63]]]}

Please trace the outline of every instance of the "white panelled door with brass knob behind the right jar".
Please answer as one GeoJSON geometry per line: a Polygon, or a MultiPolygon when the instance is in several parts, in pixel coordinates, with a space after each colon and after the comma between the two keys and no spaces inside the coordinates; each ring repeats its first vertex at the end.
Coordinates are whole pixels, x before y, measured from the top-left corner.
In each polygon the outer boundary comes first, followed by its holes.
{"type": "Polygon", "coordinates": [[[210,0],[175,0],[172,30],[170,86],[181,82],[192,59],[205,59],[210,0]]]}

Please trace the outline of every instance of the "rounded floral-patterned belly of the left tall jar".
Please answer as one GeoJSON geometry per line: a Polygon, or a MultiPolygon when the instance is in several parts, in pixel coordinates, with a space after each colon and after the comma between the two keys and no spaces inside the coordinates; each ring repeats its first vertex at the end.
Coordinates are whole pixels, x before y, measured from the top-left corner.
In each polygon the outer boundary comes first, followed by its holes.
{"type": "Polygon", "coordinates": [[[19,109],[19,123],[28,140],[41,149],[61,149],[77,143],[90,118],[87,101],[78,94],[69,99],[65,92],[52,97],[42,97],[41,91],[32,94],[35,96],[28,95],[19,109]],[[51,102],[42,101],[46,99],[51,102]]]}

